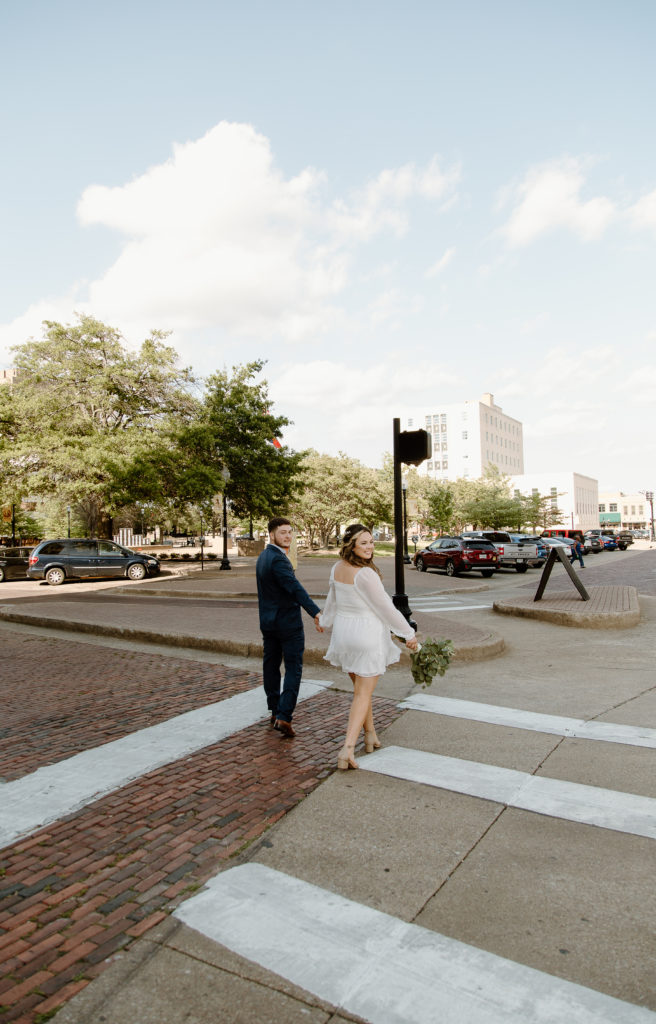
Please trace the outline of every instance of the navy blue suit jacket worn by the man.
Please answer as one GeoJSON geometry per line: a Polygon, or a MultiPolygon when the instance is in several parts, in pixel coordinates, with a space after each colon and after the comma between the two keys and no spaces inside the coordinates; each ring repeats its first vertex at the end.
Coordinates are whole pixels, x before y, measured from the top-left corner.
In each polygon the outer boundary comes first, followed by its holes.
{"type": "Polygon", "coordinates": [[[263,633],[295,633],[303,629],[301,608],[313,618],[321,610],[299,583],[287,555],[269,544],[258,557],[260,629],[263,633]]]}

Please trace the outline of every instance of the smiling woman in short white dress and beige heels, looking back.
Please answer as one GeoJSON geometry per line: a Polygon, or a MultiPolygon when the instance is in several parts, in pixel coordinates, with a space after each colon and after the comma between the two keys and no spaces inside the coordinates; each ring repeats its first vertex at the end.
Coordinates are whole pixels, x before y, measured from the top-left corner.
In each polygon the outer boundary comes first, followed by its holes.
{"type": "Polygon", "coordinates": [[[337,766],[357,768],[354,751],[362,727],[365,752],[370,754],[381,745],[374,726],[371,696],[387,666],[401,656],[390,631],[403,637],[410,650],[417,650],[414,630],[385,591],[374,564],[374,538],[361,523],[348,526],[344,534],[319,622],[333,627],[325,660],[348,672],[353,680],[353,702],[337,766]]]}

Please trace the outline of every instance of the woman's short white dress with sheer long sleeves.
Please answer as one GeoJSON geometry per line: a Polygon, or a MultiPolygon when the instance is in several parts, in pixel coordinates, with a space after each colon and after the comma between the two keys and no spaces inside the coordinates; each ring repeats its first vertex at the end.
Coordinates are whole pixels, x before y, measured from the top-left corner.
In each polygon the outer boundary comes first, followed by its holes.
{"type": "Polygon", "coordinates": [[[390,632],[411,640],[414,630],[394,606],[381,578],[374,569],[358,569],[352,584],[335,579],[331,584],[321,626],[332,626],[333,634],[324,660],[356,676],[382,676],[388,665],[398,662],[401,651],[390,632]]]}

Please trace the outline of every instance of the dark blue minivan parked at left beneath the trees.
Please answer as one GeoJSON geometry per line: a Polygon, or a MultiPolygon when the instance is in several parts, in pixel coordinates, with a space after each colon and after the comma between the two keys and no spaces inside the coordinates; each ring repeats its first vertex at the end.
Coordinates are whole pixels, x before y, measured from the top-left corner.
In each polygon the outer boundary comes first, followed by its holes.
{"type": "Polygon", "coordinates": [[[159,571],[160,562],[155,555],[130,551],[113,541],[68,538],[38,544],[30,556],[28,578],[45,580],[51,587],[58,587],[68,579],[143,580],[145,575],[158,575],[159,571]]]}

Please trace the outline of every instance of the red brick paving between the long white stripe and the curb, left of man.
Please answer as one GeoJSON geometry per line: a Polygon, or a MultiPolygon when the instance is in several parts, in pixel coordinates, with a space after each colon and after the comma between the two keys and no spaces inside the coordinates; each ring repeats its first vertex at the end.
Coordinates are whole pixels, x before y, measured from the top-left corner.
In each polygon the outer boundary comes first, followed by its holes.
{"type": "Polygon", "coordinates": [[[19,778],[260,684],[221,665],[5,634],[0,777],[19,778]]]}

